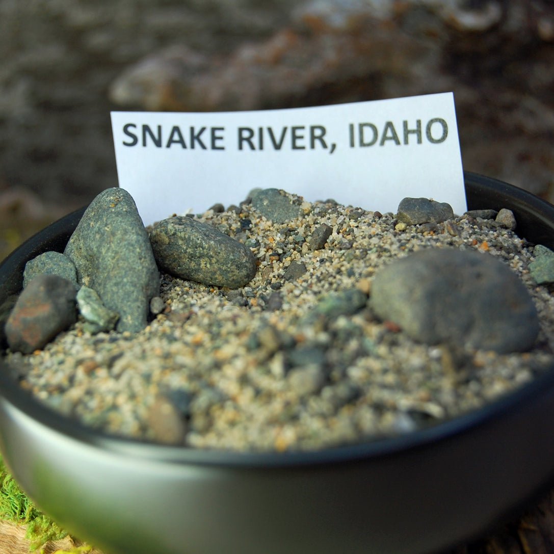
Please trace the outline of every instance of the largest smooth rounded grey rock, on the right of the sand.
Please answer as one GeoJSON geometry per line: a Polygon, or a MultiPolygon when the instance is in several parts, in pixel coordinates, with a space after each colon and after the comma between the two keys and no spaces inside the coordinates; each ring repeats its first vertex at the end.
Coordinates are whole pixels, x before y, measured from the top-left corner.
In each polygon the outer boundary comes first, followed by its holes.
{"type": "Polygon", "coordinates": [[[525,351],[538,334],[534,302],[510,268],[473,250],[429,248],[373,278],[371,307],[414,340],[525,351]]]}

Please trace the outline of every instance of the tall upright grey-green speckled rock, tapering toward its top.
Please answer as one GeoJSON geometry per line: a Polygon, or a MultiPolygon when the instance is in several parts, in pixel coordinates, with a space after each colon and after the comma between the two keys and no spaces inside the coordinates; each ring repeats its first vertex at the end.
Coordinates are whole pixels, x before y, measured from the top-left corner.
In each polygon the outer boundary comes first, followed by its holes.
{"type": "Polygon", "coordinates": [[[117,331],[144,329],[160,274],[135,201],[109,188],[91,202],[65,248],[80,285],[94,289],[119,314],[117,331]]]}

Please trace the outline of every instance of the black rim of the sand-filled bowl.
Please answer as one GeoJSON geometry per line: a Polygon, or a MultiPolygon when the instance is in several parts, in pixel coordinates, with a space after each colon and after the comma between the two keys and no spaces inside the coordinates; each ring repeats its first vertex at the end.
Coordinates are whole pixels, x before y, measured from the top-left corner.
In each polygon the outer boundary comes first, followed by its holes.
{"type": "MultiPolygon", "coordinates": [[[[502,193],[516,201],[524,202],[531,209],[540,211],[540,217],[550,218],[554,226],[554,206],[536,197],[524,189],[504,183],[497,179],[464,172],[466,186],[484,188],[489,193],[498,187],[502,193]]],[[[468,199],[469,204],[469,199],[468,199]]],[[[468,206],[468,209],[472,209],[468,206]]],[[[65,234],[69,238],[68,225],[76,226],[85,208],[68,214],[47,228],[39,231],[20,245],[2,263],[0,277],[6,266],[21,264],[22,260],[37,255],[40,245],[48,237],[65,234]]],[[[516,214],[517,219],[517,214],[516,214]]],[[[553,239],[554,240],[554,239],[553,239]]],[[[1,285],[0,285],[1,286],[1,285]]],[[[554,363],[552,364],[554,369],[554,363]]],[[[416,449],[434,447],[483,429],[501,419],[522,410],[528,403],[539,401],[540,397],[554,390],[554,371],[546,370],[542,375],[532,379],[515,391],[507,393],[484,406],[443,420],[430,427],[416,429],[412,432],[365,439],[358,443],[341,444],[320,450],[286,450],[270,451],[233,451],[223,449],[198,449],[181,445],[163,445],[139,439],[107,434],[99,429],[88,427],[79,420],[63,416],[53,409],[38,402],[32,394],[24,391],[7,371],[0,360],[0,402],[11,404],[17,411],[24,413],[36,423],[54,432],[91,447],[106,450],[115,455],[130,456],[136,459],[158,461],[171,464],[194,464],[200,466],[218,466],[220,468],[291,468],[294,466],[329,466],[336,464],[369,463],[384,460],[390,456],[402,455],[416,449]]]]}

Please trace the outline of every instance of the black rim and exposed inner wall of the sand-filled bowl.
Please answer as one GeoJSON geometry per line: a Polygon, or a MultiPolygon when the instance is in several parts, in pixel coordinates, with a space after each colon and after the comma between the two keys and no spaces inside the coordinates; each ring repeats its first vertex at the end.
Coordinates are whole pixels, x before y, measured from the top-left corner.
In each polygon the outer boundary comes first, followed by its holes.
{"type": "MultiPolygon", "coordinates": [[[[554,248],[554,206],[551,204],[510,184],[469,172],[465,172],[465,189],[468,209],[509,208],[516,217],[516,232],[520,237],[531,243],[554,248]]],[[[63,252],[65,244],[84,211],[85,208],[81,208],[37,233],[0,264],[0,305],[22,288],[23,269],[29,259],[47,250],[63,252]]],[[[486,420],[502,417],[502,414],[512,411],[522,402],[531,401],[537,394],[544,391],[545,387],[548,389],[554,387],[554,372],[546,372],[534,382],[499,401],[453,420],[439,423],[434,427],[420,429],[406,435],[318,452],[244,454],[201,451],[186,447],[166,447],[106,435],[84,427],[75,420],[60,416],[42,406],[34,401],[27,392],[24,392],[7,374],[6,371],[0,371],[0,394],[4,399],[47,427],[80,441],[100,445],[102,448],[114,452],[148,459],[239,466],[328,464],[367,459],[372,456],[388,456],[409,448],[422,447],[437,440],[447,440],[456,434],[467,432],[486,420]]]]}

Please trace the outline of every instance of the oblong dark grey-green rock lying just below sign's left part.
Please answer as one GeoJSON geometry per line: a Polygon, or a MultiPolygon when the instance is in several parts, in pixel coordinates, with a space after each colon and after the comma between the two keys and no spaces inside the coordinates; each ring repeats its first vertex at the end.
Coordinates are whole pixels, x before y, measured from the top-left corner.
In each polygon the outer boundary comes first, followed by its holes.
{"type": "Polygon", "coordinates": [[[154,225],[150,242],[160,268],[180,279],[237,289],[256,274],[248,247],[196,219],[163,219],[154,225]]]}

